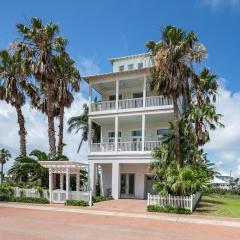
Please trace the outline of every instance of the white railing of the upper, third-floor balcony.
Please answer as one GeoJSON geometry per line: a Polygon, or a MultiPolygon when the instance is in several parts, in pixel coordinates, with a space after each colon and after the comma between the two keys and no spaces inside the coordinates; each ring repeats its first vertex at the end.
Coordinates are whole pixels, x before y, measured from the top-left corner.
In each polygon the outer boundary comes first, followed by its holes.
{"type": "MultiPolygon", "coordinates": [[[[143,108],[143,98],[130,98],[122,99],[118,101],[118,109],[133,109],[133,108],[143,108]]],[[[145,98],[145,107],[161,107],[172,105],[172,99],[165,98],[163,96],[152,96],[145,98]]],[[[111,111],[116,110],[116,101],[103,101],[103,102],[92,102],[91,111],[111,111]]]]}

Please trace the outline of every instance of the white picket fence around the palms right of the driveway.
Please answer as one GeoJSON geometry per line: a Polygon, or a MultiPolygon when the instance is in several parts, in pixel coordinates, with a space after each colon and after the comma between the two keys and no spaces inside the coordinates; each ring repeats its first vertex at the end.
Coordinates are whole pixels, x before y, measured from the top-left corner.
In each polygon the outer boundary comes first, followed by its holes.
{"type": "Polygon", "coordinates": [[[190,196],[161,196],[148,193],[148,205],[166,206],[171,205],[174,208],[185,208],[193,211],[202,196],[201,192],[190,196]]]}

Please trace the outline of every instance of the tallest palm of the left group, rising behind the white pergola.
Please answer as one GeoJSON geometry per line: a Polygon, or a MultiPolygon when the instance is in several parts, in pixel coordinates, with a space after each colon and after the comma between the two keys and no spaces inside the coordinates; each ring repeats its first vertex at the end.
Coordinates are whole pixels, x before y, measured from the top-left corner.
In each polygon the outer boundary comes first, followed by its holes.
{"type": "Polygon", "coordinates": [[[57,66],[55,56],[65,50],[67,41],[59,37],[59,28],[50,22],[43,24],[39,18],[32,18],[29,26],[16,25],[22,35],[22,42],[18,46],[25,49],[25,59],[31,68],[35,80],[42,86],[47,99],[48,138],[51,159],[56,156],[55,128],[54,128],[54,84],[56,83],[57,66]]]}

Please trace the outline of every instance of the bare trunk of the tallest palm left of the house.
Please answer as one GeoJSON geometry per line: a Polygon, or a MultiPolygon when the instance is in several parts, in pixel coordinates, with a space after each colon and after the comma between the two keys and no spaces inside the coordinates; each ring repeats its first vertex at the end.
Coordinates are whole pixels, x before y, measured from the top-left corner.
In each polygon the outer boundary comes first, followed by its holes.
{"type": "Polygon", "coordinates": [[[54,111],[53,111],[53,86],[47,81],[47,116],[48,116],[48,140],[50,160],[54,161],[56,156],[55,129],[54,129],[54,111]]]}

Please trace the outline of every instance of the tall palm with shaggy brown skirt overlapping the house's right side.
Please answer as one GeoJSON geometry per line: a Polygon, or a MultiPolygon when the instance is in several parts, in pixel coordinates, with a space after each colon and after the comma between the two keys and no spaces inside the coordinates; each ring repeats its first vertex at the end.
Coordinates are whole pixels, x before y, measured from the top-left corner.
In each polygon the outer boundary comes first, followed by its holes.
{"type": "Polygon", "coordinates": [[[178,125],[178,99],[189,98],[189,78],[195,75],[192,63],[201,62],[206,56],[204,46],[194,32],[188,34],[175,26],[162,31],[160,42],[149,41],[146,47],[154,57],[150,89],[173,99],[176,160],[180,162],[180,136],[178,125]]]}

